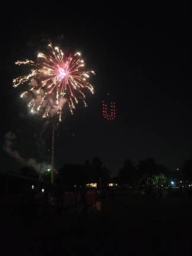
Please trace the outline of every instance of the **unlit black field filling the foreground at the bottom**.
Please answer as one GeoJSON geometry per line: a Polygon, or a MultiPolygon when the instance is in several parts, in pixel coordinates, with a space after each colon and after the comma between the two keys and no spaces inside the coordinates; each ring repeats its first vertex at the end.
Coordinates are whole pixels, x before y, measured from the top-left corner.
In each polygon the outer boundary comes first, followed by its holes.
{"type": "Polygon", "coordinates": [[[102,206],[90,215],[1,212],[2,246],[27,255],[191,255],[190,197],[120,196],[102,206]]]}

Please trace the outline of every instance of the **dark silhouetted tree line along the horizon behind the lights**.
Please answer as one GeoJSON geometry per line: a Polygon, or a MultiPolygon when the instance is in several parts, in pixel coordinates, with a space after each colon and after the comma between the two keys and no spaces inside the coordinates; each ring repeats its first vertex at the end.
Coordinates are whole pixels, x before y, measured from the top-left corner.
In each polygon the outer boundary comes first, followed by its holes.
{"type": "MultiPolygon", "coordinates": [[[[21,175],[38,178],[39,175],[31,168],[23,167],[21,175]]],[[[50,180],[50,172],[44,172],[41,177],[50,180]]],[[[107,185],[114,182],[120,185],[165,185],[171,180],[175,183],[192,181],[192,159],[184,161],[181,169],[170,171],[167,167],[157,164],[152,158],[139,161],[134,165],[127,159],[116,177],[112,177],[110,170],[100,158],[85,161],[84,164],[65,164],[56,174],[56,183],[64,185],[85,185],[87,183],[100,183],[107,185]]]]}

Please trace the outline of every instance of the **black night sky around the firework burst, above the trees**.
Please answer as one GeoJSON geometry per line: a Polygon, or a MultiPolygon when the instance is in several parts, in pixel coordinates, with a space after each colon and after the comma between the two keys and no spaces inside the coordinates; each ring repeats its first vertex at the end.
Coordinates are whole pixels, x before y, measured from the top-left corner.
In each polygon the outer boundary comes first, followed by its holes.
{"type": "MultiPolygon", "coordinates": [[[[77,105],[73,116],[63,111],[56,132],[57,169],[94,156],[114,174],[126,158],[137,164],[152,157],[171,170],[181,166],[192,158],[190,7],[79,8],[57,17],[48,9],[21,18],[15,12],[1,20],[1,166],[18,168],[2,150],[8,131],[17,136],[15,149],[24,158],[39,158],[36,134],[44,123],[28,114],[20,89],[11,85],[20,75],[14,61],[35,57],[47,39],[64,50],[81,51],[96,72],[91,80],[95,94],[87,94],[89,107],[77,105]],[[101,116],[103,100],[116,102],[116,120],[101,116]]],[[[49,125],[45,133],[49,162],[49,125]]]]}

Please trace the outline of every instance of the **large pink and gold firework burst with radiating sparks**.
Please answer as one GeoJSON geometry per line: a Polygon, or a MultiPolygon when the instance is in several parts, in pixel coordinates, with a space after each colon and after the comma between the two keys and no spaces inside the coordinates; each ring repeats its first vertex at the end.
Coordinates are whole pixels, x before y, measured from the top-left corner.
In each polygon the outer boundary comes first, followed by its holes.
{"type": "Polygon", "coordinates": [[[57,114],[61,120],[62,107],[66,102],[73,114],[75,104],[79,100],[85,102],[84,89],[94,93],[94,88],[88,82],[94,71],[85,70],[85,62],[81,53],[63,53],[59,47],[48,44],[47,53],[38,53],[37,61],[17,61],[16,65],[28,65],[28,75],[13,80],[13,86],[18,87],[30,82],[30,88],[21,93],[21,98],[28,100],[31,113],[41,113],[42,117],[57,114]]]}

